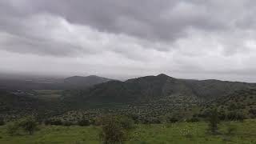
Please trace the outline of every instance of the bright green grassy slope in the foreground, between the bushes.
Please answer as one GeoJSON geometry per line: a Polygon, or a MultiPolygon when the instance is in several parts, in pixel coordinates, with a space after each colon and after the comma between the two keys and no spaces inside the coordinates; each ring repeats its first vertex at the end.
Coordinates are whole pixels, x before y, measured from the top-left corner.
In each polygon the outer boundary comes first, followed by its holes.
{"type": "MultiPolygon", "coordinates": [[[[231,122],[237,130],[234,134],[226,134],[230,122],[219,125],[220,134],[206,133],[205,122],[180,122],[174,124],[138,125],[130,131],[129,144],[218,144],[256,143],[256,120],[245,122],[231,122]]],[[[86,143],[98,144],[98,126],[41,126],[41,130],[34,135],[8,136],[6,126],[0,126],[0,143],[4,144],[30,144],[30,143],[86,143]]]]}

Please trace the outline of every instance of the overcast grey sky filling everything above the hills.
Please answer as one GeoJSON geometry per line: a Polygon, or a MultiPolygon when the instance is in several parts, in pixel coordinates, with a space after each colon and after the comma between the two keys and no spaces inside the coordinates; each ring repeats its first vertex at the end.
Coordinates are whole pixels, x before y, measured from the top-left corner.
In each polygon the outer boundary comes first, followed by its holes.
{"type": "Polygon", "coordinates": [[[0,72],[256,82],[254,0],[1,0],[0,72]]]}

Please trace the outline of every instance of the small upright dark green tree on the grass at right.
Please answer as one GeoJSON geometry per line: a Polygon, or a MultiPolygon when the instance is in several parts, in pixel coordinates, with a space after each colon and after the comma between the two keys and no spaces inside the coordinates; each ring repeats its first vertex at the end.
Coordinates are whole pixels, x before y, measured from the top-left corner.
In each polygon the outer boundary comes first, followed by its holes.
{"type": "Polygon", "coordinates": [[[209,130],[212,134],[217,134],[218,123],[219,123],[218,110],[213,109],[210,111],[210,115],[209,115],[209,130]]]}

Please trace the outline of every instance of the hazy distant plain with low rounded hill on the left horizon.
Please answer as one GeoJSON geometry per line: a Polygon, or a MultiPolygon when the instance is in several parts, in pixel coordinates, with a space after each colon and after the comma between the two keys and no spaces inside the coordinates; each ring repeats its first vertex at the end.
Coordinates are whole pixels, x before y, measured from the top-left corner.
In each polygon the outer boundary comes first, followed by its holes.
{"type": "Polygon", "coordinates": [[[84,89],[111,79],[102,78],[96,75],[87,77],[74,76],[70,78],[33,78],[33,79],[14,79],[1,78],[0,89],[7,90],[69,90],[84,89]]]}

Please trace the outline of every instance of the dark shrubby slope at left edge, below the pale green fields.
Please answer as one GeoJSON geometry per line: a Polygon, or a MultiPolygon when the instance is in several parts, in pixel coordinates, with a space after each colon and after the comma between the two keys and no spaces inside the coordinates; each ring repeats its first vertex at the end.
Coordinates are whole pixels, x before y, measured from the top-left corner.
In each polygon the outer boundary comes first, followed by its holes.
{"type": "Polygon", "coordinates": [[[8,119],[40,114],[40,118],[49,118],[70,110],[58,98],[42,99],[26,95],[17,95],[10,90],[0,90],[0,117],[8,119]]]}

